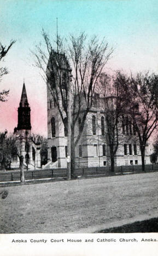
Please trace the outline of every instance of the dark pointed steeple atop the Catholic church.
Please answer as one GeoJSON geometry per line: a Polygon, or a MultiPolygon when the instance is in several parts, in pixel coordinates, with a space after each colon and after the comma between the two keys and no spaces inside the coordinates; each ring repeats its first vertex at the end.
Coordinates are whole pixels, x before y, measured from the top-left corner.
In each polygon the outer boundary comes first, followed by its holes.
{"type": "Polygon", "coordinates": [[[28,104],[25,83],[23,84],[21,100],[18,108],[17,130],[31,130],[30,105],[28,104]]]}

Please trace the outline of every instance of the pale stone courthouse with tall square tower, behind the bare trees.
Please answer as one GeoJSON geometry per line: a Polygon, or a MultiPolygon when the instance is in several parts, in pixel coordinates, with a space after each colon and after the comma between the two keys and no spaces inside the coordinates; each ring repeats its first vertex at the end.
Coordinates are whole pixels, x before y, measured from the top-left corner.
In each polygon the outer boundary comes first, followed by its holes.
{"type": "MultiPolygon", "coordinates": [[[[56,63],[56,55],[54,51],[51,53],[49,62],[51,61],[52,69],[50,71],[48,62],[47,72],[51,72],[51,88],[56,90],[55,81],[58,79],[58,66],[56,63]]],[[[64,84],[64,73],[69,72],[70,68],[66,57],[63,58],[63,67],[61,79],[64,84]]],[[[69,83],[69,81],[68,81],[69,83]]],[[[57,89],[58,90],[58,89],[57,89]]],[[[62,90],[65,90],[63,87],[62,90]]],[[[59,93],[60,95],[60,93],[59,93]]],[[[75,164],[79,167],[90,166],[108,166],[110,165],[109,147],[106,141],[107,124],[102,109],[102,98],[99,94],[94,96],[94,103],[87,114],[84,130],[78,145],[75,147],[75,164]]],[[[113,100],[112,98],[109,100],[113,100]]],[[[60,100],[62,110],[62,101],[60,100]]],[[[84,109],[84,100],[83,100],[84,109]]],[[[60,113],[54,101],[53,92],[50,90],[48,79],[47,84],[47,112],[48,112],[48,164],[47,167],[67,167],[67,131],[61,120],[60,113]]],[[[138,138],[130,123],[128,117],[122,116],[120,123],[120,143],[118,151],[115,155],[115,165],[139,165],[141,164],[141,151],[139,149],[138,138]],[[128,139],[127,139],[128,137],[128,139]]],[[[76,123],[75,136],[79,133],[80,117],[76,123]]],[[[145,164],[150,164],[149,146],[145,152],[145,164]]]]}

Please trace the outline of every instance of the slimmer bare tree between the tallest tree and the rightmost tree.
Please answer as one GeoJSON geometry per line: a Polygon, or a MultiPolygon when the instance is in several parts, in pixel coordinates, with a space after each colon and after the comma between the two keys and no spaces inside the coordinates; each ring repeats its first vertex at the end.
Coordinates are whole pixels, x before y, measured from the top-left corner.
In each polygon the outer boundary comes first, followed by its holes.
{"type": "MultiPolygon", "coordinates": [[[[106,120],[106,129],[101,124],[102,141],[107,144],[107,154],[110,155],[111,171],[114,172],[114,159],[119,146],[127,141],[122,134],[122,117],[124,117],[124,95],[118,83],[118,73],[108,75],[102,73],[98,81],[98,89],[102,98],[102,110],[106,120]]],[[[102,123],[103,120],[101,120],[102,123]]]]}

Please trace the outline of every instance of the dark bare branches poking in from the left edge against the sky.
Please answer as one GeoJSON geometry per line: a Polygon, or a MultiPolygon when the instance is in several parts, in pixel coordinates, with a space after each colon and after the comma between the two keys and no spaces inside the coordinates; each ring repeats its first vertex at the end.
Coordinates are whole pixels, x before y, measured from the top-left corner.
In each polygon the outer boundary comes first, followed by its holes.
{"type": "MultiPolygon", "coordinates": [[[[7,55],[11,46],[15,43],[15,40],[11,40],[8,46],[3,46],[0,42],[0,63],[4,61],[4,57],[7,55]]],[[[0,67],[0,82],[2,80],[3,75],[8,74],[8,69],[6,67],[0,67]]],[[[0,91],[0,101],[6,101],[6,97],[9,94],[9,90],[0,91]]]]}

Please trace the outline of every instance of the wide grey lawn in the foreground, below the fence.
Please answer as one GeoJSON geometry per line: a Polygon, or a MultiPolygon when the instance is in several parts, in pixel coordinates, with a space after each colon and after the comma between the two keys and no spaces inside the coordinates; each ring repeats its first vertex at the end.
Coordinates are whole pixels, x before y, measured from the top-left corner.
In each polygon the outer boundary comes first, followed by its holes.
{"type": "Polygon", "coordinates": [[[157,178],[155,172],[1,188],[8,195],[0,200],[0,232],[77,232],[151,218],[158,208],[157,178]]]}

